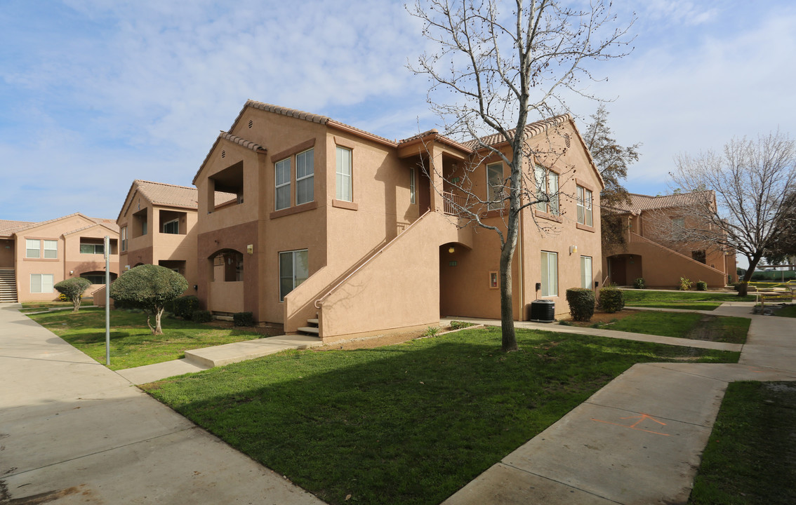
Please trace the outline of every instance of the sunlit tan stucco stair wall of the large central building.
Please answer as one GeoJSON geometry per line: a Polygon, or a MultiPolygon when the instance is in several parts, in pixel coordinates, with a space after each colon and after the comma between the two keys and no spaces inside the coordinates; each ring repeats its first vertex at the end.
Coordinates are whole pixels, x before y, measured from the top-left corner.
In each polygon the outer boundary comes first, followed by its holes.
{"type": "Polygon", "coordinates": [[[472,241],[471,227],[427,212],[319,301],[323,340],[439,324],[439,246],[472,241]]]}

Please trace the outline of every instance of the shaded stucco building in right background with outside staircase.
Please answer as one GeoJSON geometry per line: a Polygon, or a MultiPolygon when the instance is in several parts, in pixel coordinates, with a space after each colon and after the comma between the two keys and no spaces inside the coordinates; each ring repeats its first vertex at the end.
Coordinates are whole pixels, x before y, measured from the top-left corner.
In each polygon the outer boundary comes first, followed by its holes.
{"type": "Polygon", "coordinates": [[[712,191],[665,196],[630,194],[621,212],[626,244],[603,250],[603,270],[610,282],[632,285],[644,278],[646,286],[673,289],[680,278],[704,281],[708,287],[737,282],[735,251],[716,244],[689,243],[677,228],[693,228],[700,222],[689,208],[700,202],[716,205],[712,191]]]}

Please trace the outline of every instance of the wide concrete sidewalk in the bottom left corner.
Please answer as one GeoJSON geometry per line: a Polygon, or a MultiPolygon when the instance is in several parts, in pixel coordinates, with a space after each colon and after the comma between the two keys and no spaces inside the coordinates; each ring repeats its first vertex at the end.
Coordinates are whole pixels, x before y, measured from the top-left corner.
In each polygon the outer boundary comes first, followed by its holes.
{"type": "Polygon", "coordinates": [[[323,502],[0,304],[0,503],[323,502]]]}

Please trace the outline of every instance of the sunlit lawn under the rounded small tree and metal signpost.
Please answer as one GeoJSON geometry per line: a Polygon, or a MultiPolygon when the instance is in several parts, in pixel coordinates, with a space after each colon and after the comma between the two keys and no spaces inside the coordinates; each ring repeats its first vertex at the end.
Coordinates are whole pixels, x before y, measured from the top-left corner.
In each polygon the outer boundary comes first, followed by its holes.
{"type": "MultiPolygon", "coordinates": [[[[104,310],[80,309],[80,313],[64,310],[29,314],[28,317],[105,364],[104,310]]],[[[154,336],[146,327],[146,314],[111,310],[111,370],[181,359],[189,349],[252,340],[262,336],[251,330],[216,328],[209,324],[166,317],[162,320],[162,328],[165,334],[154,336]]]]}

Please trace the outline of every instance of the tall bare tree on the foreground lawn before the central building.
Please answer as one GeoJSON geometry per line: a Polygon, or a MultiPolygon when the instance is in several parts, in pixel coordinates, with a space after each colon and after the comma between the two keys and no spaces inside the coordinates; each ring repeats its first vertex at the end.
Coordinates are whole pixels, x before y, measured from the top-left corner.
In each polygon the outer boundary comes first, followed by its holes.
{"type": "MultiPolygon", "coordinates": [[[[625,37],[632,25],[630,21],[616,28],[611,4],[603,0],[591,2],[588,10],[563,4],[556,0],[515,0],[506,5],[498,0],[427,0],[410,9],[423,21],[423,35],[438,47],[420,56],[412,70],[431,81],[428,101],[443,118],[446,134],[459,139],[497,134],[509,146],[504,152],[495,146],[498,142],[475,141],[476,149],[509,167],[509,177],[494,185],[486,199],[507,204],[504,226],[485,226],[497,232],[501,243],[501,347],[505,352],[517,350],[511,264],[521,208],[538,202],[540,196],[541,200],[555,198],[557,193],[557,189],[546,196],[537,192],[535,166],[528,161],[556,153],[540,153],[527,142],[526,125],[568,111],[565,99],[572,93],[589,95],[582,81],[593,80],[591,64],[625,56],[629,42],[625,37]],[[529,181],[533,184],[528,185],[529,181]]],[[[458,189],[476,194],[462,182],[456,185],[458,189]]],[[[459,210],[467,206],[459,205],[459,210]]],[[[468,218],[478,215],[478,211],[463,213],[468,218]]]]}

